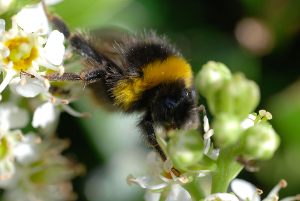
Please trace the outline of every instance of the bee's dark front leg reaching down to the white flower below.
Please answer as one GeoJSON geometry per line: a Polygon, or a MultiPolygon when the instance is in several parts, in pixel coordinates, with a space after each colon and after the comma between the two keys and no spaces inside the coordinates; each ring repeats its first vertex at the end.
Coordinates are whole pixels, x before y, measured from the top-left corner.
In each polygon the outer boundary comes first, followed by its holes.
{"type": "MultiPolygon", "coordinates": [[[[140,122],[140,128],[142,129],[142,133],[144,133],[147,144],[151,145],[153,149],[158,153],[161,159],[165,162],[167,160],[167,156],[161,147],[158,145],[157,138],[155,136],[155,132],[152,126],[153,120],[150,114],[146,114],[143,120],[140,122]]],[[[171,171],[179,177],[180,171],[175,169],[174,167],[171,171]]]]}

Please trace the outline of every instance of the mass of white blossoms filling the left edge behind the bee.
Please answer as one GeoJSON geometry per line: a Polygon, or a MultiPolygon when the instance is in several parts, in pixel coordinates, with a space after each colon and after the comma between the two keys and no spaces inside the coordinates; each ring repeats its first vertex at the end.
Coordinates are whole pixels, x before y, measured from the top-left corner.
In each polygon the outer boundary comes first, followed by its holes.
{"type": "MultiPolygon", "coordinates": [[[[0,14],[14,3],[1,1],[0,14]]],[[[21,9],[11,20],[7,29],[9,24],[0,19],[1,200],[76,200],[70,180],[84,173],[85,167],[61,154],[70,142],[54,134],[61,111],[88,116],[68,105],[82,89],[57,90],[45,76],[64,73],[64,35],[49,31],[42,3],[21,9]],[[30,123],[34,129],[23,133],[30,123]]]]}

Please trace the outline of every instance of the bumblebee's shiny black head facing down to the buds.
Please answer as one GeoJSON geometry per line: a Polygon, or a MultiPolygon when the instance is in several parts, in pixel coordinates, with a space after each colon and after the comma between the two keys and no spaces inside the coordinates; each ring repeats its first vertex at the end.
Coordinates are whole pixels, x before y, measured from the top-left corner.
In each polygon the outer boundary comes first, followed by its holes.
{"type": "Polygon", "coordinates": [[[197,112],[193,111],[197,97],[184,87],[181,82],[165,83],[156,92],[152,116],[156,124],[165,129],[185,128],[193,123],[197,112]]]}

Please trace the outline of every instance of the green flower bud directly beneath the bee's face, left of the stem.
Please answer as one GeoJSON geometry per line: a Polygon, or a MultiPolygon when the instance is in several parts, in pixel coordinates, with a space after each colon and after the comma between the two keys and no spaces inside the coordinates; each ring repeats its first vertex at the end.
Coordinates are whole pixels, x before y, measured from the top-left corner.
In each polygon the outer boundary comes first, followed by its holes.
{"type": "Polygon", "coordinates": [[[175,167],[185,169],[203,157],[203,141],[196,130],[173,130],[167,151],[175,167]]]}

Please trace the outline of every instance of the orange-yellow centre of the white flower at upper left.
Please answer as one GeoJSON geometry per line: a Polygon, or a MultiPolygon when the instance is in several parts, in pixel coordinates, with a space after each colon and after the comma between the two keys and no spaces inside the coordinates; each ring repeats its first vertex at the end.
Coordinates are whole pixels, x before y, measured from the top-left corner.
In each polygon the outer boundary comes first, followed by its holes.
{"type": "Polygon", "coordinates": [[[32,61],[38,57],[38,50],[29,43],[28,38],[14,38],[4,45],[10,49],[10,55],[3,60],[6,64],[12,61],[13,69],[17,71],[27,70],[32,61]]]}

